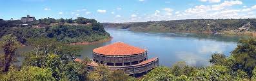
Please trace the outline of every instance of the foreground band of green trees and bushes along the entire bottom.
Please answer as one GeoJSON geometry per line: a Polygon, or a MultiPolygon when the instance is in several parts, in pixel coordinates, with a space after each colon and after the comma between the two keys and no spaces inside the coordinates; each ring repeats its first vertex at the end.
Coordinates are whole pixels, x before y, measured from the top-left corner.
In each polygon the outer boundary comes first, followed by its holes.
{"type": "Polygon", "coordinates": [[[27,41],[31,51],[17,54],[20,42],[13,34],[0,40],[3,54],[0,54],[0,80],[89,80],[89,81],[255,81],[256,80],[256,38],[240,40],[230,56],[213,54],[212,65],[189,66],[178,62],[171,67],[159,66],[141,78],[125,75],[121,70],[108,70],[101,65],[94,71],[86,71],[85,57],[81,63],[73,61],[79,56],[80,47],[64,45],[53,38],[32,38],[27,41]],[[24,57],[21,66],[17,55],[24,57]]]}

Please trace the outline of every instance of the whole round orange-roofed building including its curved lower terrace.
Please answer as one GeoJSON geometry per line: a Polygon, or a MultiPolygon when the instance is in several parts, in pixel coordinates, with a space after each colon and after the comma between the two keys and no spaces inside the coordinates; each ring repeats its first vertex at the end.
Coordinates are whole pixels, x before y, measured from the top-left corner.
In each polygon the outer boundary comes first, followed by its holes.
{"type": "Polygon", "coordinates": [[[99,64],[104,64],[110,70],[123,70],[128,75],[138,77],[159,66],[158,57],[148,59],[147,50],[123,42],[95,48],[92,57],[92,63],[86,64],[88,71],[93,71],[99,64]]]}

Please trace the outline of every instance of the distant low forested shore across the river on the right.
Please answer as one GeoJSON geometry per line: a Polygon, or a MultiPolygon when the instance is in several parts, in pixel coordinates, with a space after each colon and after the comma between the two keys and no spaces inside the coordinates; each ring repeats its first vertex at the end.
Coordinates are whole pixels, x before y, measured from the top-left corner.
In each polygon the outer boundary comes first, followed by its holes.
{"type": "Polygon", "coordinates": [[[131,22],[131,23],[105,23],[106,27],[118,27],[130,30],[141,31],[231,31],[237,30],[239,27],[245,26],[250,28],[250,31],[256,29],[256,19],[187,19],[187,20],[163,20],[150,22],[131,22]]]}

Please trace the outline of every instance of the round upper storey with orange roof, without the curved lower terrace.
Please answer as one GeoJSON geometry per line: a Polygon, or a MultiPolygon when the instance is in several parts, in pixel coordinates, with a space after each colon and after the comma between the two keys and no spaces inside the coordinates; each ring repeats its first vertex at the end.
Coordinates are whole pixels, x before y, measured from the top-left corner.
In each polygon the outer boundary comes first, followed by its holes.
{"type": "Polygon", "coordinates": [[[107,66],[130,66],[147,59],[147,51],[126,43],[117,42],[93,50],[93,61],[107,66]]]}

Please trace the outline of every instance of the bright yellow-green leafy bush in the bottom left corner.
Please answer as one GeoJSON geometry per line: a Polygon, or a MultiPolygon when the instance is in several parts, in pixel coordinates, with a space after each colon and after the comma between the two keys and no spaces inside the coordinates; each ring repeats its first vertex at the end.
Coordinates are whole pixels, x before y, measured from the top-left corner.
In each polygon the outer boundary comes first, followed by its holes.
{"type": "Polygon", "coordinates": [[[6,81],[54,81],[52,71],[49,68],[38,68],[33,66],[23,67],[20,71],[13,67],[6,75],[1,75],[0,80],[6,81]]]}

